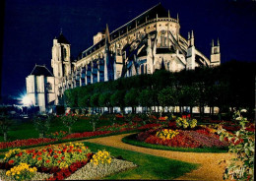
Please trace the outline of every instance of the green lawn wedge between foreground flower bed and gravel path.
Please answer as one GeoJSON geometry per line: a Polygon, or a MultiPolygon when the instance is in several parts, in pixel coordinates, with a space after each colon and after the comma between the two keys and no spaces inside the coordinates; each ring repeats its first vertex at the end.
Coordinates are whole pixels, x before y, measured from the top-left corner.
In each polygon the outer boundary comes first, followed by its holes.
{"type": "Polygon", "coordinates": [[[184,161],[164,158],[151,154],[145,154],[136,151],[125,151],[107,146],[101,146],[92,143],[84,143],[91,151],[105,150],[109,151],[114,157],[122,157],[125,160],[132,161],[138,167],[105,177],[108,180],[126,180],[126,179],[151,179],[151,180],[172,180],[180,177],[187,172],[199,167],[199,164],[188,163],[184,161]]]}

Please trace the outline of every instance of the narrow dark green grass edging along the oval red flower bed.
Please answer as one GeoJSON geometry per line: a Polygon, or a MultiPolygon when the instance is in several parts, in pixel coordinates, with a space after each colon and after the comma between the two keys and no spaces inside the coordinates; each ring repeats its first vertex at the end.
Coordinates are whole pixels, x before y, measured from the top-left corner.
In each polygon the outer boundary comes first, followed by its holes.
{"type": "Polygon", "coordinates": [[[167,146],[160,146],[160,145],[153,145],[148,144],[145,142],[140,142],[136,139],[137,134],[129,135],[122,139],[122,142],[126,144],[130,144],[133,146],[143,147],[143,148],[150,148],[150,149],[157,149],[157,150],[164,150],[164,151],[184,151],[184,152],[227,152],[228,148],[173,148],[167,146]]]}

